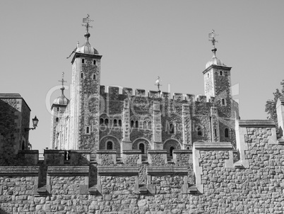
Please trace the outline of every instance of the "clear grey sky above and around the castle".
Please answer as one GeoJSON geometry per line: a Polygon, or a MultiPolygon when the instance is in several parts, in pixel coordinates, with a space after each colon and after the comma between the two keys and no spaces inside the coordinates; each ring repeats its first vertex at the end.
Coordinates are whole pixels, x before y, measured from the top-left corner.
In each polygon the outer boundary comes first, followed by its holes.
{"type": "MultiPolygon", "coordinates": [[[[212,57],[208,33],[218,34],[217,57],[232,67],[242,119],[266,119],[264,106],[280,88],[284,1],[0,1],[0,93],[18,93],[40,122],[32,148],[49,147],[50,103],[61,72],[71,83],[71,59],[84,43],[82,18],[93,19],[90,44],[102,55],[101,84],[203,94],[212,57]],[[49,96],[51,94],[52,96],[49,96]],[[47,105],[46,105],[47,101],[47,105]]],[[[58,89],[58,90],[55,90],[58,89]]],[[[69,90],[65,91],[69,98],[69,90]]],[[[31,124],[30,124],[31,125],[31,124]]]]}

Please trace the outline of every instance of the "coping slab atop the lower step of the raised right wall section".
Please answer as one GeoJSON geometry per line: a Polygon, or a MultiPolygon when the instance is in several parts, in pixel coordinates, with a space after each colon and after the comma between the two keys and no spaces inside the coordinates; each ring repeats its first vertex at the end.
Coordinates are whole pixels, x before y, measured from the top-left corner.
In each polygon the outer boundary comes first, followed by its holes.
{"type": "Polygon", "coordinates": [[[232,150],[231,142],[194,142],[196,150],[232,150]]]}

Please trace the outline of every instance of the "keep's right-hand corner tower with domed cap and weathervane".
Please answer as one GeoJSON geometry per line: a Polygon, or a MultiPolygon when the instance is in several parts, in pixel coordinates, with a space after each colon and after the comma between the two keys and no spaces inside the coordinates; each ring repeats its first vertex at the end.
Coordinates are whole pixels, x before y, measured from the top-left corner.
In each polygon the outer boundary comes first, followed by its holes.
{"type": "Polygon", "coordinates": [[[204,94],[209,100],[214,97],[211,109],[211,135],[213,141],[235,139],[235,118],[239,118],[239,108],[232,99],[231,69],[216,57],[215,32],[209,33],[213,45],[213,57],[206,64],[204,75],[204,94]]]}

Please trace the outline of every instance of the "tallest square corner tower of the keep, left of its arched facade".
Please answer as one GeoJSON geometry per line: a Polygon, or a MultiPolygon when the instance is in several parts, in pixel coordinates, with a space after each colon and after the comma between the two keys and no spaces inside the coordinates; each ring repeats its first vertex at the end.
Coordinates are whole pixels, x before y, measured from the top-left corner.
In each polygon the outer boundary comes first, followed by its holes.
{"type": "Polygon", "coordinates": [[[89,43],[90,18],[85,23],[85,43],[77,44],[73,51],[71,104],[70,104],[70,148],[72,150],[97,150],[100,116],[100,59],[102,55],[89,43]]]}

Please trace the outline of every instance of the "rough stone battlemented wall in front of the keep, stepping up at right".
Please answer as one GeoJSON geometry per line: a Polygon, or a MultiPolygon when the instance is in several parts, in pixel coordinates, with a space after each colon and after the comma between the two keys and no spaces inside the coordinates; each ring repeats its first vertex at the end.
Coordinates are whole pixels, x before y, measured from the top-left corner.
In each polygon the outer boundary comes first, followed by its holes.
{"type": "MultiPolygon", "coordinates": [[[[45,164],[0,168],[0,213],[283,213],[284,145],[268,120],[239,120],[230,142],[192,151],[49,151],[45,164]],[[57,159],[57,161],[55,161],[57,159]],[[57,163],[57,164],[56,164],[57,163]],[[45,186],[38,171],[47,167],[45,186]]],[[[31,155],[31,154],[29,154],[31,155]]]]}

